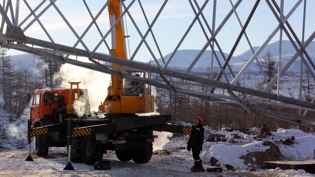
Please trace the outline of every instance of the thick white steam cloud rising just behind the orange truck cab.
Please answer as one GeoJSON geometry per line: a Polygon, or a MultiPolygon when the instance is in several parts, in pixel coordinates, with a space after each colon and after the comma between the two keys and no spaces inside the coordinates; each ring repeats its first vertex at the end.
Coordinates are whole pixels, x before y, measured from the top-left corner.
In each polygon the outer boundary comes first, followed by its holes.
{"type": "MultiPolygon", "coordinates": [[[[78,60],[84,58],[78,57],[78,60]]],[[[88,59],[84,59],[88,60],[88,59]]],[[[98,106],[107,96],[107,88],[110,85],[110,75],[102,72],[86,69],[72,64],[63,64],[60,72],[54,76],[62,78],[61,87],[70,88],[68,81],[81,81],[79,88],[85,88],[89,93],[91,111],[98,111],[98,106]]],[[[76,86],[74,86],[76,89],[76,86]]]]}

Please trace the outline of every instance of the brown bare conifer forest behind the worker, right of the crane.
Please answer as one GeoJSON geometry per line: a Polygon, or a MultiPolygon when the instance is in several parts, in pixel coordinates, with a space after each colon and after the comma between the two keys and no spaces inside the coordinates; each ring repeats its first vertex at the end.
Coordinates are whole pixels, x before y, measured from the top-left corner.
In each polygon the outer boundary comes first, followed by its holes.
{"type": "MultiPolygon", "coordinates": [[[[300,129],[304,132],[314,133],[314,129],[309,127],[299,126],[298,124],[264,115],[247,113],[245,110],[236,107],[211,103],[208,100],[165,91],[159,88],[157,88],[156,106],[157,113],[172,115],[172,124],[177,124],[178,121],[193,124],[193,118],[201,116],[204,119],[205,126],[216,130],[261,128],[266,124],[272,131],[284,128],[300,129]]],[[[298,111],[290,108],[265,104],[258,104],[258,106],[266,110],[298,114],[298,111]]],[[[306,116],[315,117],[315,113],[309,111],[306,113],[306,116]]]]}

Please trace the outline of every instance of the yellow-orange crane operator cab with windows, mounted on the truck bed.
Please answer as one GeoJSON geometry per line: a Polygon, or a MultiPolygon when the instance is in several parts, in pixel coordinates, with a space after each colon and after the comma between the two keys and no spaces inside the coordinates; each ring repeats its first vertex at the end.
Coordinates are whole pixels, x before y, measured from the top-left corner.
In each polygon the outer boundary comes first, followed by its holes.
{"type": "Polygon", "coordinates": [[[123,78],[121,88],[118,88],[120,96],[112,99],[112,87],[108,89],[108,97],[99,106],[101,113],[153,113],[154,96],[151,95],[151,85],[141,82],[143,78],[151,78],[151,73],[129,71],[133,79],[123,78]],[[137,77],[140,77],[137,80],[137,77]]]}

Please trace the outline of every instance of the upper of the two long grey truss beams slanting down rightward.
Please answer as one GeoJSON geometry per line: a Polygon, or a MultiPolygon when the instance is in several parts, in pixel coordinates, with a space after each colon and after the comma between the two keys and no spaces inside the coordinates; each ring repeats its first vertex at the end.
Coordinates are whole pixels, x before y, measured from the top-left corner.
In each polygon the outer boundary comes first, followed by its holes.
{"type": "MultiPolygon", "coordinates": [[[[2,37],[5,38],[5,36],[2,36],[2,37]]],[[[33,39],[30,37],[26,37],[26,39],[27,39],[28,43],[36,45],[36,46],[40,46],[40,47],[44,47],[44,48],[54,48],[54,49],[66,51],[69,53],[73,53],[74,55],[83,56],[83,57],[87,57],[87,58],[89,58],[89,56],[90,56],[89,53],[85,50],[66,47],[66,46],[50,43],[47,41],[41,41],[41,40],[33,39]]],[[[101,60],[101,61],[115,63],[115,64],[122,64],[125,66],[146,70],[148,72],[155,72],[157,74],[163,74],[163,75],[175,77],[178,79],[189,80],[192,82],[207,84],[207,85],[211,85],[212,87],[216,87],[216,88],[222,88],[222,89],[240,92],[240,93],[244,93],[244,94],[248,94],[248,95],[252,95],[252,96],[256,96],[256,97],[264,97],[264,98],[268,98],[271,100],[277,100],[277,101],[288,103],[288,104],[293,104],[293,105],[297,105],[297,106],[301,106],[301,107],[307,107],[310,109],[315,109],[314,103],[309,103],[309,102],[305,102],[305,101],[301,101],[301,100],[297,100],[297,99],[292,99],[292,98],[288,98],[288,97],[283,97],[283,96],[277,96],[274,94],[270,94],[270,93],[266,93],[263,91],[250,89],[250,88],[241,87],[238,85],[232,85],[232,84],[229,85],[228,83],[225,83],[225,82],[221,82],[221,81],[217,81],[217,80],[210,80],[210,79],[206,79],[203,77],[197,77],[197,76],[181,73],[179,71],[173,71],[173,70],[167,69],[167,70],[164,70],[164,72],[162,73],[157,66],[142,64],[142,63],[133,62],[133,61],[130,62],[127,60],[115,58],[115,57],[100,54],[100,53],[94,53],[94,52],[93,52],[93,58],[95,60],[101,60]]]]}

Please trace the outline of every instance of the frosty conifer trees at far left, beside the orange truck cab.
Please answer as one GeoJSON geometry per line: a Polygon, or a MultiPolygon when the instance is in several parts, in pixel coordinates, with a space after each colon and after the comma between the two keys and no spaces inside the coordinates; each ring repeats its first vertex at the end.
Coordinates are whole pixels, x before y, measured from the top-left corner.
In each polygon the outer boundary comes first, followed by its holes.
{"type": "MultiPolygon", "coordinates": [[[[35,56],[34,56],[35,57],[35,56]]],[[[11,56],[5,48],[0,48],[0,111],[20,115],[27,107],[27,94],[36,89],[59,86],[54,74],[60,70],[61,64],[51,59],[38,57],[33,72],[26,67],[15,68],[11,56]]]]}

